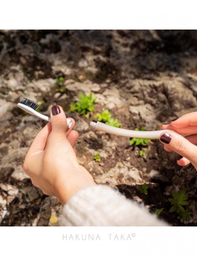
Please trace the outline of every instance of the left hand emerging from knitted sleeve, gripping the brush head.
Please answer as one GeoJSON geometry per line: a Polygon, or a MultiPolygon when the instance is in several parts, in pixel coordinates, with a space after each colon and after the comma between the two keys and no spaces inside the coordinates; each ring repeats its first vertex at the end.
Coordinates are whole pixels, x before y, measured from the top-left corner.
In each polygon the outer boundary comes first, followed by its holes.
{"type": "Polygon", "coordinates": [[[72,119],[71,128],[67,129],[62,108],[53,106],[51,123],[35,137],[23,164],[33,185],[46,195],[57,196],[63,204],[79,189],[95,184],[91,174],[77,161],[73,147],[78,133],[72,130],[74,125],[72,119]]]}

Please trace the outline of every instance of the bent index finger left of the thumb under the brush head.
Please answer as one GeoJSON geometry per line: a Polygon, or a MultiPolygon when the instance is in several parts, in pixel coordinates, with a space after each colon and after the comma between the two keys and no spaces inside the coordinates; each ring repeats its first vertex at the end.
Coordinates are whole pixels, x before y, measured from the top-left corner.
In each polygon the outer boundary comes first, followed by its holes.
{"type": "Polygon", "coordinates": [[[46,147],[46,141],[51,133],[51,123],[49,122],[35,137],[29,151],[41,151],[46,147]]]}

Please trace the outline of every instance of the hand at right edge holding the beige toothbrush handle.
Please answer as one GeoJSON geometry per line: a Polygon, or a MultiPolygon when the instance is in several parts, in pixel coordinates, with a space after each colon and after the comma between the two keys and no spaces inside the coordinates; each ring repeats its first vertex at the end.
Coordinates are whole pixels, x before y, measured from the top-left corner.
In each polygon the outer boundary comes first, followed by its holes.
{"type": "Polygon", "coordinates": [[[185,166],[189,163],[197,169],[197,112],[192,112],[171,121],[171,124],[164,124],[162,129],[173,129],[176,133],[168,132],[160,136],[164,149],[168,152],[175,151],[183,156],[177,163],[185,166]],[[187,135],[188,136],[181,136],[187,135]]]}

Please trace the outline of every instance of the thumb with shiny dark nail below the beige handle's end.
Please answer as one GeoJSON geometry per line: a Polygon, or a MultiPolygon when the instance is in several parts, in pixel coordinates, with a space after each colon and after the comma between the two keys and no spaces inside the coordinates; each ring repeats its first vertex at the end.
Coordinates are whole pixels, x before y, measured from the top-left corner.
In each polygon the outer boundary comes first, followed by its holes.
{"type": "Polygon", "coordinates": [[[186,157],[194,165],[194,167],[197,168],[197,147],[189,142],[186,138],[171,131],[168,133],[163,133],[160,136],[160,141],[162,144],[168,145],[172,151],[186,157]]]}

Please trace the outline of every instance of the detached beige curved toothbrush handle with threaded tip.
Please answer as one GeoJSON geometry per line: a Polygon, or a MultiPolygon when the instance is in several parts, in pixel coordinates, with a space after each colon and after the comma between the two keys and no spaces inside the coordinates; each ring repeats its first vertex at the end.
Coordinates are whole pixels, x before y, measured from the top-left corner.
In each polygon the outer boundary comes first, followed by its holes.
{"type": "Polygon", "coordinates": [[[113,127],[99,121],[91,122],[90,126],[97,131],[104,131],[105,133],[120,135],[124,137],[131,137],[131,138],[141,138],[141,139],[159,139],[162,133],[174,131],[174,130],[134,131],[134,130],[127,130],[127,129],[113,127]]]}

